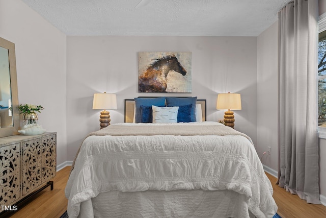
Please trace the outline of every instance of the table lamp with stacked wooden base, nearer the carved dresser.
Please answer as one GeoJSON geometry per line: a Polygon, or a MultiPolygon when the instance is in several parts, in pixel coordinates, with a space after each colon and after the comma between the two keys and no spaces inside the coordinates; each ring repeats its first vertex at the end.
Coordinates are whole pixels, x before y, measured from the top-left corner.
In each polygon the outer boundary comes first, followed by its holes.
{"type": "Polygon", "coordinates": [[[95,93],[93,98],[93,109],[103,110],[100,115],[100,129],[103,129],[110,125],[110,112],[108,109],[118,109],[117,108],[117,96],[116,94],[110,93],[95,93]]]}

